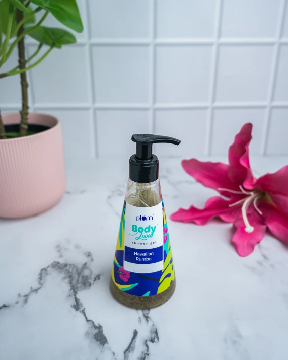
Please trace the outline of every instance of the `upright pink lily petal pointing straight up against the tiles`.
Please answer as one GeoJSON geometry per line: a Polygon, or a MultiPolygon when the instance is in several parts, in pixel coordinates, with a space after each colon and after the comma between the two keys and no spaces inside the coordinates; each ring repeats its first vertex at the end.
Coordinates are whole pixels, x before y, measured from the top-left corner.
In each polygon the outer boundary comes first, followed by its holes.
{"type": "Polygon", "coordinates": [[[251,186],[254,183],[249,162],[249,143],[252,139],[252,127],[253,125],[250,123],[242,126],[228,152],[229,178],[237,184],[242,185],[244,183],[244,187],[248,186],[249,189],[252,188],[251,186]]]}

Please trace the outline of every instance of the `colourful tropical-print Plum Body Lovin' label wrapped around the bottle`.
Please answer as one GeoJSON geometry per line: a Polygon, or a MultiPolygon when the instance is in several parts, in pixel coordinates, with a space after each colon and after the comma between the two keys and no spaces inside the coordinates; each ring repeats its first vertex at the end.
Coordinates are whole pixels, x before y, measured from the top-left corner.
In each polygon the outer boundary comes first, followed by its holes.
{"type": "Polygon", "coordinates": [[[175,269],[163,200],[152,207],[124,201],[112,281],[136,296],[156,295],[173,283],[175,269]]]}

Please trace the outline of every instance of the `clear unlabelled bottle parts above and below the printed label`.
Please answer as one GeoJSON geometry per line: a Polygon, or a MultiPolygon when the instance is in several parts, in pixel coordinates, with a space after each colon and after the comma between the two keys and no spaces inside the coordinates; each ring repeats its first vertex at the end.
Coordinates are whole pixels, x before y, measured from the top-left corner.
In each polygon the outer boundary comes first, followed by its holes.
{"type": "MultiPolygon", "coordinates": [[[[162,201],[160,181],[157,179],[152,183],[136,183],[128,179],[125,200],[132,206],[151,207],[162,201]]],[[[120,290],[112,281],[110,290],[112,295],[122,304],[134,309],[149,309],[164,304],[175,291],[176,281],[165,291],[151,296],[135,296],[120,290]]]]}

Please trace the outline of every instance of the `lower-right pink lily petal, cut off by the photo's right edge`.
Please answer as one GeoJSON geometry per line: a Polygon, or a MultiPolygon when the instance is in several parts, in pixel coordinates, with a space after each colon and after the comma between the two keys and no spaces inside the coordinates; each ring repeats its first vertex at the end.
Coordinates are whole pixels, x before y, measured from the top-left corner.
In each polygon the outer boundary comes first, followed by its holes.
{"type": "Polygon", "coordinates": [[[288,243],[288,214],[275,205],[262,202],[259,206],[265,223],[271,233],[279,240],[288,243]]]}

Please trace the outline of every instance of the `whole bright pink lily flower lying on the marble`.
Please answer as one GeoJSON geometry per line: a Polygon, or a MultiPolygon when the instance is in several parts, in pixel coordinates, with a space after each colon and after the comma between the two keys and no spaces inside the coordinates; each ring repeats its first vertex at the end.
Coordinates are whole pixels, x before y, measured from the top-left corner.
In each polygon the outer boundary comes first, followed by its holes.
{"type": "Polygon", "coordinates": [[[234,223],[232,242],[240,256],[251,254],[267,229],[288,243],[288,166],[256,179],[249,163],[252,124],[245,124],[229,148],[229,164],[183,160],[183,169],[222,196],[207,200],[203,209],[180,208],[174,221],[205,225],[214,217],[234,223]],[[223,198],[225,197],[225,198],[223,198]]]}

